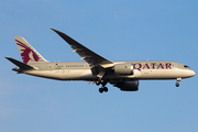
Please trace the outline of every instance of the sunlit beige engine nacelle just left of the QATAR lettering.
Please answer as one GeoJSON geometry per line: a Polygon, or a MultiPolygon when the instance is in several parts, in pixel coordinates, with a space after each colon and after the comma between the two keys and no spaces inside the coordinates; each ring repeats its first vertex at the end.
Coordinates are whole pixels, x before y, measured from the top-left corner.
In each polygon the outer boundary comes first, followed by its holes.
{"type": "Polygon", "coordinates": [[[133,75],[133,64],[125,63],[125,64],[117,64],[114,65],[114,74],[120,75],[133,75]]]}

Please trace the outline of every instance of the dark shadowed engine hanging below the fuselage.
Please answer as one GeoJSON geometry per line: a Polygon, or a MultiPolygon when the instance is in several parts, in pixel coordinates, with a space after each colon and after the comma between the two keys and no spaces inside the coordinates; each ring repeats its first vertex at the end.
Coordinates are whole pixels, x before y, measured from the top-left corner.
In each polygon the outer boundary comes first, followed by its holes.
{"type": "Polygon", "coordinates": [[[114,85],[123,91],[138,91],[139,90],[139,80],[134,81],[121,81],[114,85]]]}

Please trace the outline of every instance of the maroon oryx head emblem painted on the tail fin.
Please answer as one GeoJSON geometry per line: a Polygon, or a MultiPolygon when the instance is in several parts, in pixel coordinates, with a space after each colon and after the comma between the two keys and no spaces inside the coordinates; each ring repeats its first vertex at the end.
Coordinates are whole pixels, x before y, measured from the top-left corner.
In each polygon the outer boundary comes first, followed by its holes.
{"type": "Polygon", "coordinates": [[[23,63],[28,64],[29,61],[38,62],[40,57],[36,55],[34,51],[32,51],[29,46],[23,44],[22,42],[15,40],[18,46],[21,46],[23,48],[20,50],[21,57],[23,59],[23,63]]]}

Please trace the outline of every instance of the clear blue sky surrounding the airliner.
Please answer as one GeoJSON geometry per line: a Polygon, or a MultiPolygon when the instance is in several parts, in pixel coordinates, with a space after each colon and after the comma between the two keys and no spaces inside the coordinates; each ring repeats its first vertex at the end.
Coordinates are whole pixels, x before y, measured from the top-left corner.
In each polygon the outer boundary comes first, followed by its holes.
{"type": "Polygon", "coordinates": [[[21,35],[47,61],[80,61],[50,28],[110,61],[175,61],[198,73],[197,0],[1,0],[0,132],[197,132],[197,76],[135,92],[16,74],[21,35]]]}

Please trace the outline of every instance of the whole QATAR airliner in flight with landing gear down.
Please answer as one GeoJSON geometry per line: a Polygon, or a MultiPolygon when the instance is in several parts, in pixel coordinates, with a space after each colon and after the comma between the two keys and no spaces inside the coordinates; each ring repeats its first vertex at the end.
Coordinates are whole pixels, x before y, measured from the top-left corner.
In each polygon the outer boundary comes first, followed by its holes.
{"type": "Polygon", "coordinates": [[[12,70],[57,80],[85,80],[101,85],[100,94],[108,91],[108,82],[122,91],[138,91],[139,80],[176,79],[178,87],[183,78],[195,76],[195,72],[187,65],[172,61],[109,61],[67,34],[51,30],[66,41],[85,62],[48,62],[22,36],[14,36],[23,63],[6,57],[18,66],[12,70]]]}

